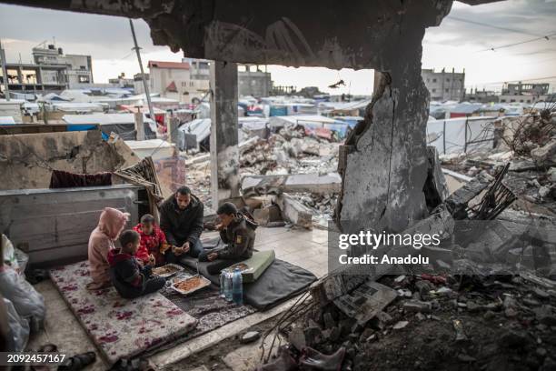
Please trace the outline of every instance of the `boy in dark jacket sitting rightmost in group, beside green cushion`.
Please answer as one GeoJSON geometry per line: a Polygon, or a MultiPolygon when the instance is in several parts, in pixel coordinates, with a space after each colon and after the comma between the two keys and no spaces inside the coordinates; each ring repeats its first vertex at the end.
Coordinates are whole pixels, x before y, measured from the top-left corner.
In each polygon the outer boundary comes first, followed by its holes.
{"type": "Polygon", "coordinates": [[[213,251],[205,250],[199,256],[200,262],[215,262],[207,267],[207,271],[211,275],[253,256],[254,231],[258,226],[252,219],[238,212],[237,207],[231,202],[226,202],[218,207],[216,214],[222,221],[216,228],[220,231],[220,237],[227,246],[213,251]]]}

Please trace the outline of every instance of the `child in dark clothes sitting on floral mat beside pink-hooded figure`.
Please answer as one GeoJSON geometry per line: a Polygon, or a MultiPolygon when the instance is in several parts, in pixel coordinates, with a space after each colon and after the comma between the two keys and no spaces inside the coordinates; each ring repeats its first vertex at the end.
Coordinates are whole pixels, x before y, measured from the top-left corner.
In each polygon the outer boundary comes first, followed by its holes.
{"type": "Polygon", "coordinates": [[[108,253],[112,284],[120,296],[128,299],[154,293],[165,283],[164,278],[153,276],[150,265],[140,266],[134,257],[140,238],[137,232],[126,230],[120,235],[122,247],[108,253]]]}

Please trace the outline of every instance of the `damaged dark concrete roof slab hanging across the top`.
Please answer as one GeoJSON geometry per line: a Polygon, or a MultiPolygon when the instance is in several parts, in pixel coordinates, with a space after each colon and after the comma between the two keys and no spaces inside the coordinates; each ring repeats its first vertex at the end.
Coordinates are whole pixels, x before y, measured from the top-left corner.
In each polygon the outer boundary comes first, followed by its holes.
{"type": "MultiPolygon", "coordinates": [[[[478,5],[492,0],[464,0],[478,5]]],[[[155,45],[239,63],[378,68],[384,55],[440,25],[452,1],[3,0],[4,3],[143,18],[155,45]],[[318,12],[315,11],[318,9],[318,12]],[[388,41],[388,42],[386,42],[388,41]]]]}

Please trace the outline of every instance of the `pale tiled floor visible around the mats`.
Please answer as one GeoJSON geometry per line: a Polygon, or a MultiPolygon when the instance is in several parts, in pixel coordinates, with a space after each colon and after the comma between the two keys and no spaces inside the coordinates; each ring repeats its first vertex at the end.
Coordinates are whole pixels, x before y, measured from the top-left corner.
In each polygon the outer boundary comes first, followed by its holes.
{"type": "MultiPolygon", "coordinates": [[[[205,237],[216,236],[215,233],[207,233],[205,237]]],[[[314,229],[312,231],[287,229],[284,227],[276,228],[257,228],[255,248],[258,250],[273,249],[276,257],[296,266],[313,272],[315,276],[323,276],[327,272],[327,243],[328,232],[325,230],[314,229]]],[[[84,332],[84,328],[79,325],[77,319],[65,305],[64,299],[55,286],[50,281],[45,281],[37,286],[36,289],[45,296],[47,316],[45,329],[39,334],[32,336],[29,346],[36,349],[46,343],[54,343],[59,347],[61,353],[74,355],[85,351],[94,350],[97,353],[97,360],[94,366],[87,367],[87,370],[104,370],[107,366],[103,359],[98,355],[94,344],[84,332]]],[[[292,301],[283,303],[267,312],[254,313],[231,324],[214,330],[204,336],[196,337],[189,342],[168,349],[151,359],[159,366],[174,363],[186,356],[212,346],[225,337],[233,336],[243,332],[247,328],[256,325],[272,316],[277,316],[283,310],[293,304],[292,301]]]]}

